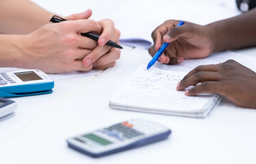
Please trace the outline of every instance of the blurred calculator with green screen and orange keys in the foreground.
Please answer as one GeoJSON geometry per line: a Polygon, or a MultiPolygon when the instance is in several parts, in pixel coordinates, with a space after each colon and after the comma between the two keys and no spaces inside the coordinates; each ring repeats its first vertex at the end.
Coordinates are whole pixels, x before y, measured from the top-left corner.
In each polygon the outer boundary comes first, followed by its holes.
{"type": "Polygon", "coordinates": [[[102,157],[166,139],[171,130],[159,123],[131,119],[67,140],[68,146],[91,157],[102,157]]]}

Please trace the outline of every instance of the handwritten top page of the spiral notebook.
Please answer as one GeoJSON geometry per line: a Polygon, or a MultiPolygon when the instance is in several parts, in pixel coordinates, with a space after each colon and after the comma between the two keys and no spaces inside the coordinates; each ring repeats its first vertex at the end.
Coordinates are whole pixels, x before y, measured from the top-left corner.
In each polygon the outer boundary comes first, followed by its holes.
{"type": "Polygon", "coordinates": [[[113,96],[111,103],[161,110],[194,111],[202,109],[208,97],[188,97],[184,91],[177,91],[178,81],[187,72],[146,69],[142,64],[121,89],[113,96]]]}

